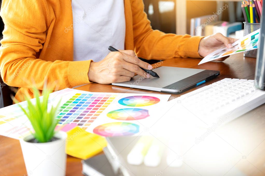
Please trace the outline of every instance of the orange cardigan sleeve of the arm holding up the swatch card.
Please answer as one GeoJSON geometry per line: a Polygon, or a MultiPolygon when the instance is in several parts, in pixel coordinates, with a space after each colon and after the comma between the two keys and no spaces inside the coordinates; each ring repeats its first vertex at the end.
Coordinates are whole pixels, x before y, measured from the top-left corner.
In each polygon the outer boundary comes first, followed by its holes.
{"type": "Polygon", "coordinates": [[[145,59],[167,59],[174,57],[201,58],[198,47],[201,36],[165,34],[152,30],[143,0],[132,0],[134,50],[145,59]]]}

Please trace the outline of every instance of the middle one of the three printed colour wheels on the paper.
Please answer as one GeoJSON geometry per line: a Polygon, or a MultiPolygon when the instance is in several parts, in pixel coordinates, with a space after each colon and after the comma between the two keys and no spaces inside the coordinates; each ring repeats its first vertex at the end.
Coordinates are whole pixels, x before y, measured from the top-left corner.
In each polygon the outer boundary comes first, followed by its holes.
{"type": "Polygon", "coordinates": [[[125,108],[107,113],[109,118],[115,120],[140,120],[149,116],[148,110],[140,108],[125,108]]]}

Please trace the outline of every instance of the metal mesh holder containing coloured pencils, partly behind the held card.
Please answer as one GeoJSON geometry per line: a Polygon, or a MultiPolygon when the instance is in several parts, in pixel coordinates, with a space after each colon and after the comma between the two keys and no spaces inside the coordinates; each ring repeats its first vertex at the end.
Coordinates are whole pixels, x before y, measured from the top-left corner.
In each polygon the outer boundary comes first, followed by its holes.
{"type": "MultiPolygon", "coordinates": [[[[247,23],[247,22],[243,23],[244,23],[244,36],[260,29],[260,23],[247,23]]],[[[257,58],[257,51],[258,49],[246,51],[244,52],[244,56],[250,58],[257,58]]]]}

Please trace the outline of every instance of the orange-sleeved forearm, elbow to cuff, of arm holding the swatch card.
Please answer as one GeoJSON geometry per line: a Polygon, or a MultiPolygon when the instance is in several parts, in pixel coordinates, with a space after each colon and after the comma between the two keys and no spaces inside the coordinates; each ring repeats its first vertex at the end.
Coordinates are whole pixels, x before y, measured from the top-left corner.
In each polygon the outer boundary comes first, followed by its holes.
{"type": "Polygon", "coordinates": [[[200,58],[198,46],[201,39],[200,36],[164,34],[152,30],[143,39],[135,40],[135,51],[137,56],[145,59],[200,58]]]}

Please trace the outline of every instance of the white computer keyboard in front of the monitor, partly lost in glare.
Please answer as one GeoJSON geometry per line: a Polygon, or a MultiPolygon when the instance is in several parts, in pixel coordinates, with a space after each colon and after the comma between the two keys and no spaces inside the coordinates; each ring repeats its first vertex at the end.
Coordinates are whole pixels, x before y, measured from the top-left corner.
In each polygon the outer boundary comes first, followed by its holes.
{"type": "Polygon", "coordinates": [[[226,118],[227,123],[265,103],[265,91],[254,87],[254,80],[225,78],[171,100],[209,125],[226,118]]]}

